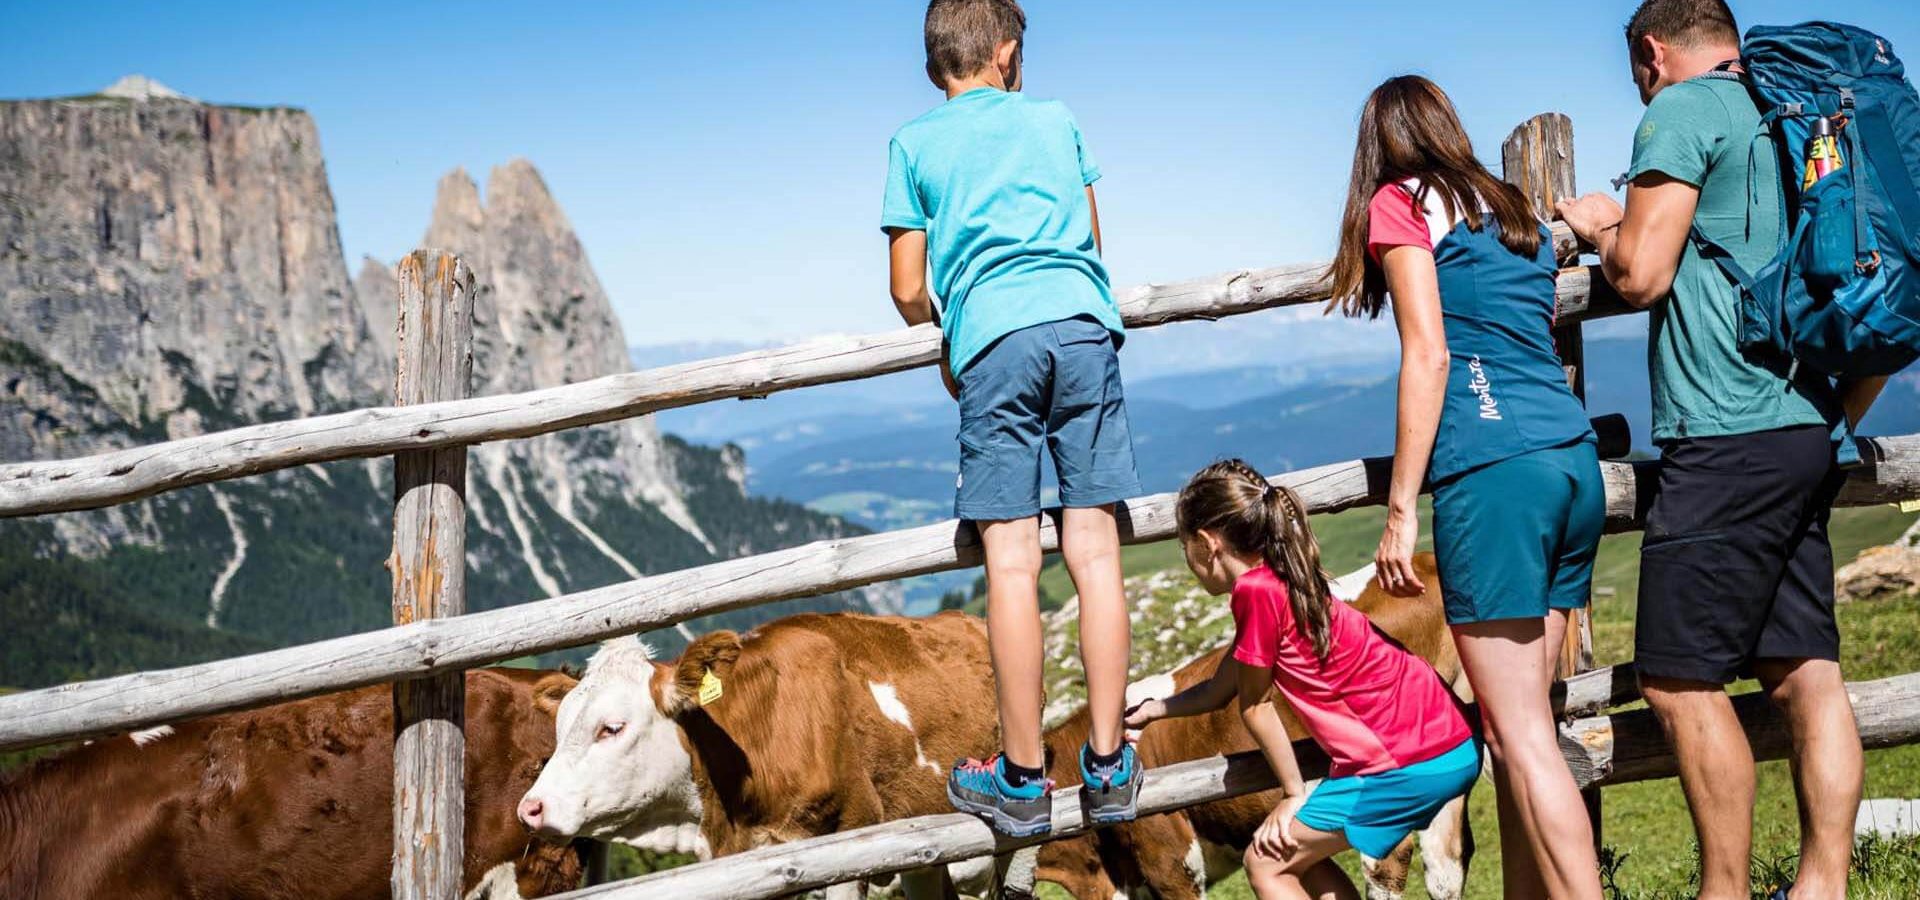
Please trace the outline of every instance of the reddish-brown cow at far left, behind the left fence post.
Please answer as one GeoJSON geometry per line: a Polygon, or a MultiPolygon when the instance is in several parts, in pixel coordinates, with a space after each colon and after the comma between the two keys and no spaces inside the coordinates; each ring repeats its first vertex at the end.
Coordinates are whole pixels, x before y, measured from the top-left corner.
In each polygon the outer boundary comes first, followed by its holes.
{"type": "MultiPolygon", "coordinates": [[[[559,672],[467,674],[468,898],[580,885],[513,804],[553,750],[559,672]]],[[[394,699],[386,685],[92,741],[0,785],[0,896],[388,896],[394,699]]]]}

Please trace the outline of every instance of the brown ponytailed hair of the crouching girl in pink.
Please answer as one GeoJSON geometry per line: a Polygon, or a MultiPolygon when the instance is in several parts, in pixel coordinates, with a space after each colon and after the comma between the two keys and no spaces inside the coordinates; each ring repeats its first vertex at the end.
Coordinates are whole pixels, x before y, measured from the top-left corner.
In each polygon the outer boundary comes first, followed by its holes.
{"type": "Polygon", "coordinates": [[[1267,484],[1254,466],[1227,459],[1202,468],[1175,503],[1181,537],[1208,530],[1238,553],[1258,555],[1286,583],[1300,635],[1327,660],[1332,645],[1332,589],[1321,570],[1319,541],[1306,505],[1288,487],[1267,484]]]}

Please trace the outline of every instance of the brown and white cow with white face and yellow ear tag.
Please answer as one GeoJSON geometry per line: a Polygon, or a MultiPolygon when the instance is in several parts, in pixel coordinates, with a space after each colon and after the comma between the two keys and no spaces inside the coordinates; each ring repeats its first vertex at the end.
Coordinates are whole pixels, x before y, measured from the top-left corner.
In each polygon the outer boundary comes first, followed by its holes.
{"type": "MultiPolygon", "coordinates": [[[[987,628],[958,612],[789,616],[672,664],[609,641],[561,702],[520,821],[639,846],[699,823],[705,858],[952,812],[947,768],[998,743],[991,685],[987,628]]],[[[941,877],[904,887],[937,896],[941,877]]]]}

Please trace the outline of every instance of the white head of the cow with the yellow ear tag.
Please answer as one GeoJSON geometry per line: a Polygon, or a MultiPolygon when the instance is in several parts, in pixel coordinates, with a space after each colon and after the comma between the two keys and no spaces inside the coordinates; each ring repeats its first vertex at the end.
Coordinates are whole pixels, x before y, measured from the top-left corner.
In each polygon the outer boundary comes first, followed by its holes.
{"type": "MultiPolygon", "coordinates": [[[[726,637],[737,654],[739,639],[726,637]]],[[[520,798],[520,821],[547,837],[643,844],[697,823],[693,760],[674,723],[695,700],[680,681],[636,637],[601,645],[561,700],[553,756],[520,798]]]]}

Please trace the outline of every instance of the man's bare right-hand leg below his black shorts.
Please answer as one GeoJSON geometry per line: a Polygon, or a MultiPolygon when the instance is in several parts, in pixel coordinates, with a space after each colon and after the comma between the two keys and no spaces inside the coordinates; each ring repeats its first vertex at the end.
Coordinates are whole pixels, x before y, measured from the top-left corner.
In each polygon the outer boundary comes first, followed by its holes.
{"type": "Polygon", "coordinates": [[[1864,760],[1839,664],[1761,660],[1755,670],[1793,733],[1793,793],[1801,817],[1793,900],[1845,898],[1864,760]]]}

